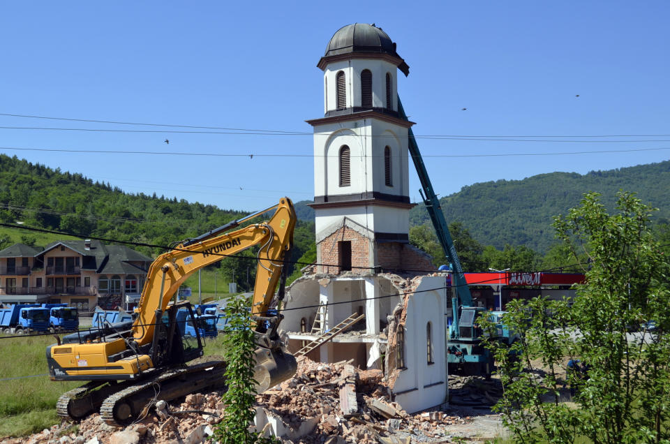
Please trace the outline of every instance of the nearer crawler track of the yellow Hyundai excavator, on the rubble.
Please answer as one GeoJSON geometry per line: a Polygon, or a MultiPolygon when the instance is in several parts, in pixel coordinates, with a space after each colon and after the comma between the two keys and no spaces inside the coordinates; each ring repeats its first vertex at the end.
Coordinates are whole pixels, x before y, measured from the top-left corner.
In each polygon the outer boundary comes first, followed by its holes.
{"type": "Polygon", "coordinates": [[[140,413],[146,413],[151,404],[160,399],[171,401],[207,387],[223,386],[224,371],[223,361],[165,371],[107,397],[101,405],[100,415],[107,424],[124,426],[140,413]]]}

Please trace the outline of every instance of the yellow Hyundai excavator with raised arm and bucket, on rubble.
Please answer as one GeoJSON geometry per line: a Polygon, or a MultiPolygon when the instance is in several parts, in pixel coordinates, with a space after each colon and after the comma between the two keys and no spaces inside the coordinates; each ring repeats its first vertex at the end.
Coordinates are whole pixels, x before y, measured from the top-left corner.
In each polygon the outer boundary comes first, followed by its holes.
{"type": "Polygon", "coordinates": [[[58,414],[80,420],[99,409],[107,424],[123,425],[160,399],[170,401],[205,388],[225,388],[225,362],[186,365],[202,357],[202,338],[197,328],[195,336],[179,329],[179,309],[186,309],[191,319],[195,317],[191,304],[178,302],[176,295],[179,286],[198,269],[252,246],[260,246],[251,307],[257,390],[265,391],[293,376],[295,357],[277,334],[282,316],[267,311],[277,284],[277,298],[283,299],[284,261],[292,246],[296,220],[292,202],[282,198],[273,207],[186,239],[158,256],[147,272],[133,321],[69,334],[47,347],[51,380],[89,381],[60,397],[58,414]],[[274,214],[267,221],[230,231],[272,210],[274,214]]]}

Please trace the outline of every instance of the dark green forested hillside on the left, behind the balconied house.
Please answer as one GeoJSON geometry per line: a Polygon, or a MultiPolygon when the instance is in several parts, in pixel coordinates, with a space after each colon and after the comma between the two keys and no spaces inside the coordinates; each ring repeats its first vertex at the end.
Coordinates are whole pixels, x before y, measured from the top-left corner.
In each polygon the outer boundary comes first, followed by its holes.
{"type": "MultiPolygon", "coordinates": [[[[0,154],[0,221],[5,223],[20,221],[29,227],[70,232],[82,237],[168,246],[245,214],[248,213],[189,203],[156,193],[128,194],[109,184],[93,182],[79,173],[61,172],[0,154]]],[[[35,242],[43,246],[43,236],[38,233],[8,230],[11,229],[0,232],[5,242],[35,242]]],[[[313,222],[299,221],[294,239],[292,258],[297,260],[314,242],[313,222]]],[[[131,247],[153,257],[163,252],[163,249],[144,246],[131,247]]],[[[244,269],[246,266],[244,264],[244,269]]]]}

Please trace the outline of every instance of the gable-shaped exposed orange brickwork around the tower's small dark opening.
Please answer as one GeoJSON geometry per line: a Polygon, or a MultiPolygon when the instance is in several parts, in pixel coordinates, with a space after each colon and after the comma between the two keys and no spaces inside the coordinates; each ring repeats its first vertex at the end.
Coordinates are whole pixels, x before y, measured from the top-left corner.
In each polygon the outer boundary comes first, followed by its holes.
{"type": "MultiPolygon", "coordinates": [[[[322,264],[339,264],[338,242],[351,242],[351,265],[353,272],[364,272],[366,270],[355,267],[372,267],[370,256],[370,239],[361,235],[356,230],[345,226],[339,228],[332,235],[319,242],[317,248],[320,252],[322,264]]],[[[318,267],[320,273],[339,274],[340,267],[318,267]]]]}

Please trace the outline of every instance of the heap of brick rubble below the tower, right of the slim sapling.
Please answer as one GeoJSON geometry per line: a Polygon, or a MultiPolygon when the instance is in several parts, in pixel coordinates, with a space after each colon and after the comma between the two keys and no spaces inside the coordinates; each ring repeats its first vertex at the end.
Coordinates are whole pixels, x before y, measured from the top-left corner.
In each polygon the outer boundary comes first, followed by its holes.
{"type": "Polygon", "coordinates": [[[391,401],[381,370],[304,357],[291,380],[256,399],[269,417],[278,417],[288,428],[282,436],[294,444],[433,441],[448,438],[446,426],[470,419],[438,411],[408,415],[391,401]]]}

